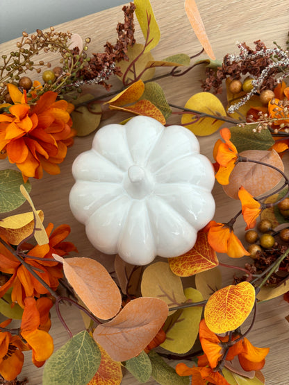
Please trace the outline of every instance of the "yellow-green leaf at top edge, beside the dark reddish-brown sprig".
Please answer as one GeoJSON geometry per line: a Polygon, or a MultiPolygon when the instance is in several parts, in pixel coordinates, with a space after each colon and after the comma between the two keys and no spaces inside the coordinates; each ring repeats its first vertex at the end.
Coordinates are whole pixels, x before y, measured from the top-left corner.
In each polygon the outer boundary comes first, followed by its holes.
{"type": "Polygon", "coordinates": [[[134,0],[135,15],[145,37],[145,52],[151,51],[160,41],[160,28],[149,0],[134,0]]]}

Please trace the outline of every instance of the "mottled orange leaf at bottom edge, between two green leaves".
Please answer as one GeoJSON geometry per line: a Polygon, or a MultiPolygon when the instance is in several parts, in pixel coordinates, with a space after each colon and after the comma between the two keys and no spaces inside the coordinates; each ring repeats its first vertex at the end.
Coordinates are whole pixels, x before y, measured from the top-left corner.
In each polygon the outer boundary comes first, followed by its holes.
{"type": "Polygon", "coordinates": [[[99,345],[101,361],[97,373],[88,385],[119,385],[122,382],[122,365],[114,361],[99,345]]]}

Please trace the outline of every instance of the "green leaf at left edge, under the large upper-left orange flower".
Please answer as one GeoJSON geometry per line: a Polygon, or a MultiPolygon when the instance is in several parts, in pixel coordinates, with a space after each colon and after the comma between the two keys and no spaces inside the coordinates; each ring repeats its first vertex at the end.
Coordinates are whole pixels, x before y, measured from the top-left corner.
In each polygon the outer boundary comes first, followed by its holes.
{"type": "Polygon", "coordinates": [[[30,182],[24,183],[19,171],[0,171],[0,212],[13,211],[26,201],[20,192],[20,185],[24,185],[28,192],[31,191],[30,182]]]}

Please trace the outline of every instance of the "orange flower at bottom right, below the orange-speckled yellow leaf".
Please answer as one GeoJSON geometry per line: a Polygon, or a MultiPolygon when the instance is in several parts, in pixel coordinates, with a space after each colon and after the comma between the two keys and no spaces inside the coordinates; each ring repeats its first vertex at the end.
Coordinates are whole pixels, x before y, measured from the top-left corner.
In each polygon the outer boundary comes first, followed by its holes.
{"type": "MultiPolygon", "coordinates": [[[[238,340],[238,336],[233,336],[232,341],[238,340]]],[[[210,366],[216,368],[220,359],[226,350],[226,343],[229,336],[217,336],[211,332],[206,325],[205,320],[201,320],[199,324],[199,341],[204,351],[203,356],[199,357],[198,366],[210,366]]],[[[232,361],[238,356],[240,365],[247,372],[251,370],[261,370],[265,365],[265,357],[269,352],[269,348],[256,348],[247,338],[236,341],[226,354],[226,361],[232,361]]]]}

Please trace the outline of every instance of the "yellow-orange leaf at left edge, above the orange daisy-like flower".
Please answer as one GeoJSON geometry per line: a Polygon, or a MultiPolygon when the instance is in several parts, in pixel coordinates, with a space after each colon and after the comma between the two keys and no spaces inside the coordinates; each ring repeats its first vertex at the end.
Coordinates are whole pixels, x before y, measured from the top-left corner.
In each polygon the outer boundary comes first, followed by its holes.
{"type": "MultiPolygon", "coordinates": [[[[40,221],[43,222],[44,214],[42,210],[38,210],[37,213],[40,221]]],[[[2,219],[0,221],[0,236],[5,238],[8,243],[18,245],[23,239],[32,234],[33,228],[33,212],[24,212],[2,219]]]]}

